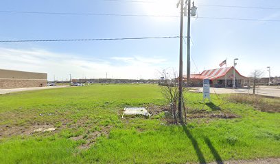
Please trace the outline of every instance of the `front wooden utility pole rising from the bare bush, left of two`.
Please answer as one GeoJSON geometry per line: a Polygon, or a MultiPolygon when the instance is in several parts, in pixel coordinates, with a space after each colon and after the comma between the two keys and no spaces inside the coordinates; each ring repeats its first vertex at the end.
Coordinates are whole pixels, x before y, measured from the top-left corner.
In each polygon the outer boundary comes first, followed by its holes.
{"type": "Polygon", "coordinates": [[[184,0],[180,0],[180,62],[179,62],[179,98],[178,117],[182,119],[183,100],[183,23],[184,23],[184,0]]]}

